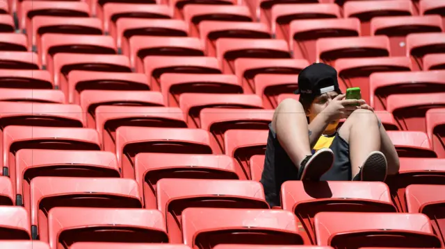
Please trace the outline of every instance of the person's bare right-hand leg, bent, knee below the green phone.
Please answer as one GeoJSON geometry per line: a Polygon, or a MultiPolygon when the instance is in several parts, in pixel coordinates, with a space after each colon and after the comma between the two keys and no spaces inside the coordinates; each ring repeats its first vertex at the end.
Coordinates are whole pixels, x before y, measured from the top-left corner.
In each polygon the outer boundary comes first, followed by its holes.
{"type": "Polygon", "coordinates": [[[350,145],[349,156],[354,178],[360,173],[360,169],[364,166],[366,160],[369,160],[370,155],[380,151],[378,119],[369,110],[356,110],[350,114],[350,117],[341,126],[339,135],[350,145]]]}

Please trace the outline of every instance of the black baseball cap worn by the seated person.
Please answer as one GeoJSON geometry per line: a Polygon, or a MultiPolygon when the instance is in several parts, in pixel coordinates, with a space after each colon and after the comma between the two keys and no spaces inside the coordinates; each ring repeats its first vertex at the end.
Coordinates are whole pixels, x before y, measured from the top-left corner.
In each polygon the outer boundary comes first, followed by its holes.
{"type": "Polygon", "coordinates": [[[337,70],[324,63],[314,63],[298,74],[298,89],[294,94],[318,96],[325,92],[341,94],[337,80],[337,70]]]}

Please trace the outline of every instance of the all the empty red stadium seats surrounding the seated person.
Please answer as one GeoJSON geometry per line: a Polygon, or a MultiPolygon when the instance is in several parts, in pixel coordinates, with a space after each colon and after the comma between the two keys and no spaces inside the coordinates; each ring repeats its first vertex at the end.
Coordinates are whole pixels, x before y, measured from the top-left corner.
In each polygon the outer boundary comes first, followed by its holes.
{"type": "Polygon", "coordinates": [[[445,248],[444,0],[0,1],[0,248],[445,248]],[[259,182],[324,62],[401,159],[259,182]]]}

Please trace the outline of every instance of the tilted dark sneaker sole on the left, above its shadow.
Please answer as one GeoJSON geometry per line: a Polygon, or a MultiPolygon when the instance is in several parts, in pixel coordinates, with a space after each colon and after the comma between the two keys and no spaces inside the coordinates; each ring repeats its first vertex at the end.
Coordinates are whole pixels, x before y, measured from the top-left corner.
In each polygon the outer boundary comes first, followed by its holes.
{"type": "Polygon", "coordinates": [[[305,166],[301,180],[318,181],[321,175],[329,171],[334,162],[334,154],[330,150],[318,151],[305,166]]]}

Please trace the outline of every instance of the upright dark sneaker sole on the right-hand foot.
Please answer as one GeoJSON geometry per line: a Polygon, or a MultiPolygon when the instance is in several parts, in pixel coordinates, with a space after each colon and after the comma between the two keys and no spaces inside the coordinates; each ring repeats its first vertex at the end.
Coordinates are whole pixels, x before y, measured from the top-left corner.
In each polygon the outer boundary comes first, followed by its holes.
{"type": "Polygon", "coordinates": [[[362,166],[362,181],[383,182],[387,178],[385,155],[375,152],[369,155],[362,166]]]}

